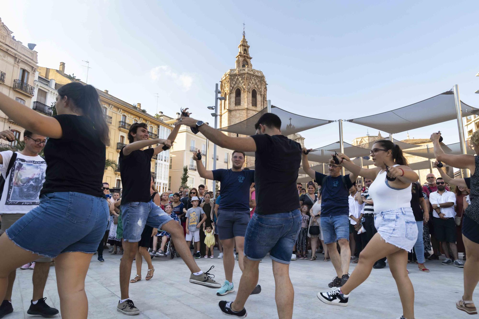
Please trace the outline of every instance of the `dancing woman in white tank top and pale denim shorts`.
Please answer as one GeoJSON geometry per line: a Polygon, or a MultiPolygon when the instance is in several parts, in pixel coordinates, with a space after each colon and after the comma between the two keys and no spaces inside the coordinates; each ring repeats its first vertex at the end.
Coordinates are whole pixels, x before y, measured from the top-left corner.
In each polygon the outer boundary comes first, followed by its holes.
{"type": "Polygon", "coordinates": [[[416,182],[419,177],[407,166],[401,148],[389,140],[374,143],[370,154],[377,166],[374,169],[361,168],[344,154],[338,156],[339,165],[355,175],[374,180],[369,187],[369,194],[374,198],[377,234],[361,251],[359,262],[349,280],[341,288],[319,292],[318,298],[329,305],[347,306],[349,293],[366,280],[377,260],[387,257],[401,298],[401,318],[414,319],[414,289],[406,266],[408,251],[412,250],[418,236],[410,202],[411,182],[416,182]]]}

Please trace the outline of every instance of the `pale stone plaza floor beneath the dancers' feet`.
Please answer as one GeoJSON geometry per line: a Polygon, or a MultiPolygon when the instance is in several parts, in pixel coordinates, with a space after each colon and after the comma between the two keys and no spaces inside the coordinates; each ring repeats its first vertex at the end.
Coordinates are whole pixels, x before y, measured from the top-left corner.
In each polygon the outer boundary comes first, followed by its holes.
{"type": "MultiPolygon", "coordinates": [[[[215,255],[218,251],[215,250],[215,255]]],[[[104,252],[105,262],[97,262],[93,256],[85,282],[89,301],[88,317],[94,319],[123,318],[116,311],[120,296],[118,282],[119,263],[122,255],[110,255],[104,252]]],[[[290,276],[295,287],[293,318],[399,318],[402,308],[398,290],[389,268],[373,269],[369,278],[356,288],[350,296],[347,307],[329,306],[318,300],[318,291],[327,291],[328,283],[335,276],[331,262],[323,262],[322,255],[313,262],[297,260],[291,262],[290,276]]],[[[462,254],[461,257],[462,259],[462,254]]],[[[198,259],[198,265],[211,273],[218,282],[224,281],[221,259],[198,259]]],[[[217,304],[220,300],[233,300],[236,292],[227,296],[216,296],[216,289],[210,289],[188,282],[190,273],[181,258],[170,260],[168,257],[153,259],[154,277],[145,280],[147,264],[142,263],[142,280],[130,284],[130,297],[141,310],[140,318],[223,318],[217,304]]],[[[426,262],[430,273],[422,273],[416,264],[409,264],[408,270],[415,290],[415,316],[418,319],[430,318],[471,318],[465,312],[456,309],[455,303],[462,296],[463,270],[452,265],[443,266],[441,261],[426,262]]],[[[351,264],[350,273],[355,264],[351,264]]],[[[12,302],[14,312],[5,319],[32,318],[26,313],[32,298],[31,270],[17,270],[17,279],[13,287],[12,302]]],[[[133,262],[132,276],[136,273],[133,262]]],[[[234,282],[239,284],[241,272],[238,262],[235,265],[234,282]]],[[[259,284],[262,292],[251,296],[246,303],[248,318],[277,318],[274,302],[274,278],[269,256],[260,263],[259,284]]],[[[477,295],[476,295],[477,296],[477,295]]],[[[59,306],[55,269],[50,274],[45,288],[46,302],[56,308],[59,306]]],[[[476,300],[479,302],[478,297],[476,300]]],[[[54,318],[59,318],[56,316],[54,318]]],[[[41,317],[39,317],[41,318],[41,317]]],[[[225,317],[226,318],[226,317],[225,317]]],[[[474,317],[472,317],[474,318],[474,317]]]]}

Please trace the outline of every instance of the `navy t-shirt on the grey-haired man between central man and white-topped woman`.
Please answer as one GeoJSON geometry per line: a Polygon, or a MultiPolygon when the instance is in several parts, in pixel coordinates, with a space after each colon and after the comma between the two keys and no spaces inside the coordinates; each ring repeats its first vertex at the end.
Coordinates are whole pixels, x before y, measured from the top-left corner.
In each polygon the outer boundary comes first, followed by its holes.
{"type": "Polygon", "coordinates": [[[342,175],[332,177],[316,172],[315,182],[321,186],[321,217],[335,215],[349,215],[349,189],[353,186],[349,174],[344,175],[346,185],[342,182],[342,175]],[[325,184],[321,185],[323,178],[325,184]]]}

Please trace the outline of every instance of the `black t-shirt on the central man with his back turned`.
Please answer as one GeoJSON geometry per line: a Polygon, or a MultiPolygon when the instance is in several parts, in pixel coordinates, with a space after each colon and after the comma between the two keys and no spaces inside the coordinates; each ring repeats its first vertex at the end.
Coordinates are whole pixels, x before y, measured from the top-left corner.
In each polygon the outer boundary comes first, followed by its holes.
{"type": "MultiPolygon", "coordinates": [[[[296,188],[301,144],[283,136],[256,134],[254,182],[256,214],[286,213],[299,208],[296,188]]],[[[221,198],[223,203],[223,198],[221,198]]]]}

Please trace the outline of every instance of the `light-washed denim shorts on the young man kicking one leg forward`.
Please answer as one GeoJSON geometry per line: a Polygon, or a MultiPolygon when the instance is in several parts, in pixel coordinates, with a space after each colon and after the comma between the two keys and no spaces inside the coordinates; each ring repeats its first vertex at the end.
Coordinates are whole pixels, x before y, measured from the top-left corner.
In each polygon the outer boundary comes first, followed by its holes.
{"type": "Polygon", "coordinates": [[[145,202],[130,202],[121,205],[123,222],[123,240],[138,242],[145,225],[160,230],[161,226],[173,220],[160,206],[150,200],[145,202]]]}

